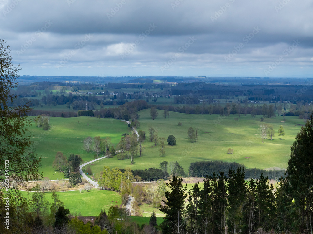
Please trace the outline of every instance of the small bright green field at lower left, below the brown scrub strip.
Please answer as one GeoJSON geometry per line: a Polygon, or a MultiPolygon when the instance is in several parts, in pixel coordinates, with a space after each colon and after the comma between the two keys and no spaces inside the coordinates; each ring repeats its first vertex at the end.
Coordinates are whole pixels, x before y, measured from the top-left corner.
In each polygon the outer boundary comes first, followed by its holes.
{"type": "MultiPolygon", "coordinates": [[[[27,195],[27,192],[23,191],[21,193],[24,197],[31,196],[31,193],[30,195],[27,195]]],[[[52,202],[51,194],[45,193],[45,197],[49,202],[52,202]]],[[[79,191],[71,191],[57,194],[59,195],[59,199],[64,203],[64,207],[68,208],[71,214],[76,213],[82,216],[97,216],[101,209],[108,212],[108,209],[112,205],[119,206],[122,204],[120,195],[117,192],[107,190],[92,189],[89,192],[80,193],[79,191]]]]}

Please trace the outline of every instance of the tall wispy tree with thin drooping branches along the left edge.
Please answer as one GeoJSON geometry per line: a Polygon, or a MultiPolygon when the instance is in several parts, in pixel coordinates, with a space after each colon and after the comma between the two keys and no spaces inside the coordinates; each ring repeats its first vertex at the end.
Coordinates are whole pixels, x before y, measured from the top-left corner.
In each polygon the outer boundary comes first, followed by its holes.
{"type": "Polygon", "coordinates": [[[6,41],[0,40],[0,229],[5,230],[6,201],[10,193],[10,231],[22,227],[18,218],[27,206],[28,201],[21,196],[12,181],[19,181],[19,186],[26,187],[29,181],[38,180],[40,175],[41,157],[37,157],[32,149],[32,134],[29,126],[35,120],[30,118],[30,103],[13,106],[18,95],[15,89],[18,86],[18,66],[14,67],[9,46],[6,41]],[[9,175],[9,177],[8,177],[9,175]],[[10,182],[8,182],[10,180],[10,182]]]}

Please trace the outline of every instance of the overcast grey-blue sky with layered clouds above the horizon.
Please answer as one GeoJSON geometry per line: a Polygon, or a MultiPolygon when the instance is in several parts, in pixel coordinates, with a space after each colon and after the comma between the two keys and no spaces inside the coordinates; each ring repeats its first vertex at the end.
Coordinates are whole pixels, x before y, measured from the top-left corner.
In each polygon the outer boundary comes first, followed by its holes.
{"type": "Polygon", "coordinates": [[[20,75],[312,77],[313,1],[0,0],[20,75]]]}

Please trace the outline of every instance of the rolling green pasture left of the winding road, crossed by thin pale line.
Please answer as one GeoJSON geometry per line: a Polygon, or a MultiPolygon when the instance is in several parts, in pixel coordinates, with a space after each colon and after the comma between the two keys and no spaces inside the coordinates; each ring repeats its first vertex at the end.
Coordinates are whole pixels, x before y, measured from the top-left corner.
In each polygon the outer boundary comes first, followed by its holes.
{"type": "Polygon", "coordinates": [[[38,156],[42,156],[42,170],[49,179],[62,179],[63,173],[55,172],[52,162],[58,151],[66,157],[70,154],[79,154],[84,162],[94,159],[94,153],[83,150],[82,141],[88,137],[110,137],[113,144],[120,141],[121,134],[129,132],[125,122],[115,119],[98,119],[80,116],[75,118],[50,117],[51,129],[44,131],[35,124],[30,126],[33,133],[32,140],[38,156]],[[79,121],[79,123],[78,123],[79,121]],[[88,125],[87,125],[88,124],[88,125]]]}

